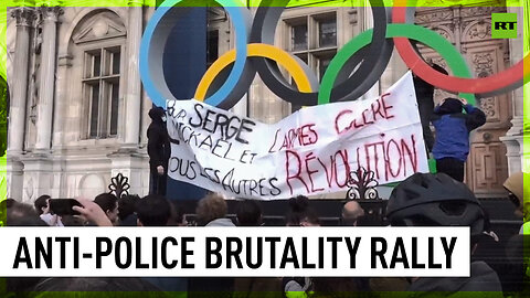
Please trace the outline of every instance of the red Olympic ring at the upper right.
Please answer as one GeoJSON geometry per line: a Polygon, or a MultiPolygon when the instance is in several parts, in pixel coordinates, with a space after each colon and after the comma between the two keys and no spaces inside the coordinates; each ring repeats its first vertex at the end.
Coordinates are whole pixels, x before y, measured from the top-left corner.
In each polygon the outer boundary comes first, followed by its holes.
{"type": "MultiPolygon", "coordinates": [[[[394,0],[392,22],[406,23],[406,0],[394,0]]],[[[520,84],[521,79],[528,81],[530,75],[530,54],[510,68],[488,77],[463,78],[442,74],[431,67],[416,53],[406,38],[394,38],[395,49],[405,62],[406,66],[425,82],[455,93],[475,93],[481,95],[495,94],[495,92],[520,84]],[[524,67],[527,65],[527,67],[524,67]],[[521,75],[522,74],[522,75],[521,75]]]]}

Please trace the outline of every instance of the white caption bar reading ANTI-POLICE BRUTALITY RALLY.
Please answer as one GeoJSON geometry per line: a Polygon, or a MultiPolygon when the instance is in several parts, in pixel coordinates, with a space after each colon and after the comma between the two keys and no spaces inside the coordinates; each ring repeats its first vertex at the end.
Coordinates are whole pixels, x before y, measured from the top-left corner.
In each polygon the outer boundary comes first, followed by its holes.
{"type": "Polygon", "coordinates": [[[468,227],[2,227],[0,276],[469,276],[468,227]]]}

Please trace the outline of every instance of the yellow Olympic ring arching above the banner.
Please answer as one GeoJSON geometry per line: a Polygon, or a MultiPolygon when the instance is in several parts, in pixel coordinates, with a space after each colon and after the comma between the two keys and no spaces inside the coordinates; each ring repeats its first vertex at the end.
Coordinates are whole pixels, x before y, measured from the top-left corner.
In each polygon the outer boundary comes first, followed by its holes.
{"type": "MultiPolygon", "coordinates": [[[[298,64],[298,62],[290,56],[287,52],[282,49],[278,49],[271,44],[265,43],[251,43],[247,45],[247,55],[251,57],[266,57],[269,60],[276,61],[280,66],[283,66],[287,73],[293,76],[293,79],[298,86],[298,89],[304,93],[311,93],[315,92],[311,88],[311,84],[309,83],[308,77],[304,73],[304,70],[298,64]]],[[[219,57],[210,68],[208,68],[206,73],[202,77],[199,86],[195,91],[194,98],[197,100],[204,102],[206,97],[208,88],[210,84],[212,84],[213,79],[231,63],[235,61],[235,50],[232,50],[221,57],[219,57]]]]}

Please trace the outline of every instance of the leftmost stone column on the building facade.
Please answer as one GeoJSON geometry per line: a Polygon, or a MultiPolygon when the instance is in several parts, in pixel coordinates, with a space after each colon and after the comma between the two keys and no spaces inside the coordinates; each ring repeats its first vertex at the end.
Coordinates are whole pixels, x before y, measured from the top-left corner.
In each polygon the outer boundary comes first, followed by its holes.
{"type": "Polygon", "coordinates": [[[14,77],[9,114],[8,153],[20,155],[24,145],[25,103],[28,97],[28,64],[30,60],[30,31],[35,20],[35,10],[15,9],[11,15],[17,19],[17,46],[14,54],[14,77]]]}

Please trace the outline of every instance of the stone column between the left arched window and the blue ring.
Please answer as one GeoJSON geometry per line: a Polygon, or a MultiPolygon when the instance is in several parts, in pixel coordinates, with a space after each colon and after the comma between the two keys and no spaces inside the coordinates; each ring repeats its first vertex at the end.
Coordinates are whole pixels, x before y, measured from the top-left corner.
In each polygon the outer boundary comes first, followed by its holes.
{"type": "Polygon", "coordinates": [[[125,92],[125,143],[137,148],[140,141],[141,83],[139,70],[142,33],[142,0],[128,1],[127,85],[125,92]]]}

